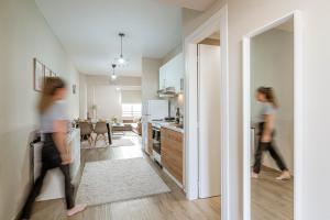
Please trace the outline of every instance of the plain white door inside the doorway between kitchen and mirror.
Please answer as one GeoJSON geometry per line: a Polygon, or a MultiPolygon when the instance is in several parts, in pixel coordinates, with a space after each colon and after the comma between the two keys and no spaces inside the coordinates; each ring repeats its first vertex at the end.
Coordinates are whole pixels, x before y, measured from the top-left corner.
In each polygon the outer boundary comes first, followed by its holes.
{"type": "Polygon", "coordinates": [[[199,198],[220,195],[220,46],[198,46],[199,198]]]}

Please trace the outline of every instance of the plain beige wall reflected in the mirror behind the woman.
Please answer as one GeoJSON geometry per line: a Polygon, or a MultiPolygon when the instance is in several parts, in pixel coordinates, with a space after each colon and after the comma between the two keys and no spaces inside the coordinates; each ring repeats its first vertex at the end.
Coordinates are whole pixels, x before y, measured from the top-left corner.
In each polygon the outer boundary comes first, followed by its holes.
{"type": "MultiPolygon", "coordinates": [[[[258,87],[273,87],[278,100],[275,143],[288,168],[294,172],[294,33],[273,29],[251,41],[251,114],[256,122],[261,103],[255,100],[258,87]]],[[[277,168],[266,154],[264,165],[277,168]]]]}

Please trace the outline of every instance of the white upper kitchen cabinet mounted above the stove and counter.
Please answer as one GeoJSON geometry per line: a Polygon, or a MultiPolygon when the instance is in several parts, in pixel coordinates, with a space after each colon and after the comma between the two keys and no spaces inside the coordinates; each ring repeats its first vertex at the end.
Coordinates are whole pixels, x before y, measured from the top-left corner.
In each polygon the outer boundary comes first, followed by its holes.
{"type": "Polygon", "coordinates": [[[160,89],[174,87],[176,92],[180,92],[184,75],[184,54],[180,53],[160,68],[160,89]]]}

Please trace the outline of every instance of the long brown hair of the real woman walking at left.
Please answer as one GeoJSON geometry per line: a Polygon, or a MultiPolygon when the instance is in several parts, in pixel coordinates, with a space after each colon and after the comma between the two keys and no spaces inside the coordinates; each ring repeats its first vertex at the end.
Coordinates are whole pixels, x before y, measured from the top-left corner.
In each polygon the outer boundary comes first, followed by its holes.
{"type": "Polygon", "coordinates": [[[54,99],[56,90],[65,87],[66,85],[64,80],[62,80],[59,77],[46,77],[41,94],[41,99],[37,105],[38,112],[46,112],[47,109],[56,101],[54,99]]]}

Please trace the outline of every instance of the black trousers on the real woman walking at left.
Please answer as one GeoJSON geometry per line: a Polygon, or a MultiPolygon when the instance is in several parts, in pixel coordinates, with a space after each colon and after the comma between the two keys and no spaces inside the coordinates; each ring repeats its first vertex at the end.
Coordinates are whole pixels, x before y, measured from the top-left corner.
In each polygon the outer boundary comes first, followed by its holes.
{"type": "Polygon", "coordinates": [[[69,165],[62,165],[62,158],[53,141],[53,135],[46,134],[44,146],[42,148],[41,174],[35,180],[34,186],[25,202],[25,206],[23,207],[23,210],[21,212],[21,219],[30,219],[33,204],[41,193],[44,178],[47,172],[53,168],[59,168],[64,175],[66,208],[72,209],[75,206],[74,186],[72,185],[69,165]]]}

